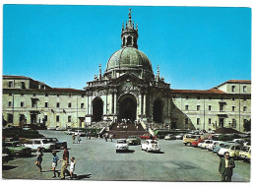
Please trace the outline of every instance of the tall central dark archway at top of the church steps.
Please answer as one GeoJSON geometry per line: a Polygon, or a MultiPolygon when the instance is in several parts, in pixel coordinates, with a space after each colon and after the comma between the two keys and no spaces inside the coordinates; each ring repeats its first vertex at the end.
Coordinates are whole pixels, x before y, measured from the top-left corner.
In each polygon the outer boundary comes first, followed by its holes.
{"type": "Polygon", "coordinates": [[[122,95],[118,100],[118,104],[118,121],[121,121],[122,119],[130,119],[134,121],[136,119],[137,101],[134,95],[122,95]]]}

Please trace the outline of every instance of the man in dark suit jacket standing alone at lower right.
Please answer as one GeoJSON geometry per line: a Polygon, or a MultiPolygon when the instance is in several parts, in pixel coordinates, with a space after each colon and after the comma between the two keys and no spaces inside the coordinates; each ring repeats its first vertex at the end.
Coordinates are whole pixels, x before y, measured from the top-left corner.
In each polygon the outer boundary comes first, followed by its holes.
{"type": "Polygon", "coordinates": [[[222,182],[231,182],[234,167],[235,164],[233,158],[230,158],[229,153],[225,152],[219,165],[219,174],[222,175],[222,182]]]}

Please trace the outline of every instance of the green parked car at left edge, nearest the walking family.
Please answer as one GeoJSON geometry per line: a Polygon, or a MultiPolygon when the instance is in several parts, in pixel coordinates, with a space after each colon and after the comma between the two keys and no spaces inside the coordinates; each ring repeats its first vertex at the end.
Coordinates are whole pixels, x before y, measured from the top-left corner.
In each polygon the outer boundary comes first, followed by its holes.
{"type": "Polygon", "coordinates": [[[9,156],[30,156],[32,149],[23,146],[19,141],[5,142],[3,147],[8,150],[9,156]]]}

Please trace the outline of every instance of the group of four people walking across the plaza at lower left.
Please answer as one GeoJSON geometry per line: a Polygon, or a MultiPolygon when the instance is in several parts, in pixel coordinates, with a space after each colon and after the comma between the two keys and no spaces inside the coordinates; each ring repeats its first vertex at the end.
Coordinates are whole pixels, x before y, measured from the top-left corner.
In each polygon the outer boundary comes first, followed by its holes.
{"type": "MultiPolygon", "coordinates": [[[[64,146],[63,148],[64,152],[63,152],[63,159],[59,159],[59,157],[57,156],[56,152],[52,152],[52,171],[53,171],[53,176],[52,178],[56,177],[56,173],[58,174],[58,177],[61,177],[61,179],[65,179],[65,175],[69,175],[70,179],[73,179],[75,174],[75,165],[76,165],[76,160],[74,156],[70,157],[70,161],[69,161],[69,151],[67,149],[66,146],[64,146]],[[60,172],[58,172],[58,170],[56,170],[56,167],[58,165],[58,162],[62,161],[61,164],[61,169],[60,172]],[[68,165],[69,170],[67,169],[68,165]]],[[[42,156],[43,153],[41,151],[41,148],[37,148],[37,152],[35,153],[36,156],[36,161],[35,161],[35,165],[39,168],[39,172],[42,172],[42,167],[41,167],[41,162],[42,162],[42,156]]]]}

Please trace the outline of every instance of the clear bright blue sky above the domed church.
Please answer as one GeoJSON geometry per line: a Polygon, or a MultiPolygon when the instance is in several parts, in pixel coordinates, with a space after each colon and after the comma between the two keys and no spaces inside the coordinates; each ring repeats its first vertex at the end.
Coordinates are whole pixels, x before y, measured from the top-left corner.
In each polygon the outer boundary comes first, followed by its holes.
{"type": "Polygon", "coordinates": [[[251,79],[251,9],[4,5],[3,74],[82,89],[121,47],[122,23],[172,89],[207,90],[251,79]]]}

